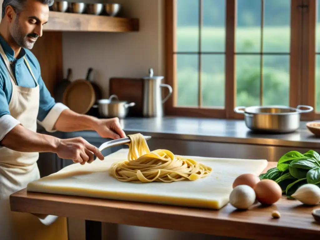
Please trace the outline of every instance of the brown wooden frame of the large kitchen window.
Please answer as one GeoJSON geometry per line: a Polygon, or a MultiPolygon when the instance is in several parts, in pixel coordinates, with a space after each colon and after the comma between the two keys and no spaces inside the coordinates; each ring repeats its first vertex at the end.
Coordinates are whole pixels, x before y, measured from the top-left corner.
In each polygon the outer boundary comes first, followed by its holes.
{"type": "MultiPolygon", "coordinates": [[[[243,119],[243,114],[234,112],[236,107],[236,0],[226,0],[224,109],[174,106],[177,98],[176,54],[174,54],[176,52],[175,2],[176,0],[165,0],[165,79],[166,83],[173,88],[172,97],[165,103],[165,115],[243,119]]],[[[291,6],[289,106],[296,108],[298,105],[309,105],[315,108],[316,3],[314,0],[292,0],[291,6]],[[308,7],[301,7],[306,5],[308,7]]],[[[199,11],[199,14],[202,14],[201,9],[199,11]]],[[[199,41],[199,44],[201,44],[201,41],[199,41]]],[[[201,67],[201,62],[199,65],[201,67]]],[[[199,77],[200,75],[201,71],[199,71],[199,77]]],[[[199,88],[201,89],[201,86],[199,88]]],[[[201,102],[201,94],[199,94],[199,102],[201,102]]],[[[313,120],[315,118],[320,118],[320,113],[316,113],[315,110],[308,114],[301,114],[301,120],[313,120]]]]}

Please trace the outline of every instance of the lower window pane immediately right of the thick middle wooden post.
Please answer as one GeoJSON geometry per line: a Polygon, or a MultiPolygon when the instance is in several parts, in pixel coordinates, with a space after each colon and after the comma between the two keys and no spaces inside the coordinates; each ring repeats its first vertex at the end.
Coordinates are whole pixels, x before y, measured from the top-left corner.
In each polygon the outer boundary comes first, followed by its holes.
{"type": "Polygon", "coordinates": [[[236,56],[236,105],[260,105],[260,55],[236,56]]]}

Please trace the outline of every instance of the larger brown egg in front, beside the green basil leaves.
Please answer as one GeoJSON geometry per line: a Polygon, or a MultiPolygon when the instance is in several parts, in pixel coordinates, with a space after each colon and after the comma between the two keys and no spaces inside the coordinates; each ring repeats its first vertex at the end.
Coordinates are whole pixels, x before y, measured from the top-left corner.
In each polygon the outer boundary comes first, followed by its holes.
{"type": "Polygon", "coordinates": [[[274,204],[282,196],[282,190],[274,180],[263,179],[253,188],[261,204],[274,204]]]}

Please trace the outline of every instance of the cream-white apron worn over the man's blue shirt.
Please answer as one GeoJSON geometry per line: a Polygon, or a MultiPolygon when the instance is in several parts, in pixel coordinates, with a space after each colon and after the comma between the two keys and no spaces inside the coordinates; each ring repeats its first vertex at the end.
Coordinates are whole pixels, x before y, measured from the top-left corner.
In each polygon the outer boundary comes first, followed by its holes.
{"type": "MultiPolygon", "coordinates": [[[[24,58],[36,87],[18,86],[1,44],[0,54],[4,59],[12,82],[12,96],[9,103],[10,114],[20,121],[22,126],[36,132],[36,119],[40,101],[39,85],[36,78],[26,58],[24,58]]],[[[53,216],[48,216],[45,220],[40,220],[33,214],[11,212],[10,210],[9,196],[26,188],[29,182],[40,178],[37,165],[38,157],[39,153],[37,152],[24,153],[0,147],[0,240],[68,239],[66,218],[59,217],[56,219],[53,216]]]]}

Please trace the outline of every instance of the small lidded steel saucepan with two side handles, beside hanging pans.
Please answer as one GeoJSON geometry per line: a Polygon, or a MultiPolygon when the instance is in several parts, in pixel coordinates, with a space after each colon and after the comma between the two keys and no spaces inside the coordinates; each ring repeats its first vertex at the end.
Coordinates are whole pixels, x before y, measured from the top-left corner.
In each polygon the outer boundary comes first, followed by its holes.
{"type": "Polygon", "coordinates": [[[97,100],[97,104],[92,107],[98,108],[99,115],[102,117],[118,117],[121,119],[128,115],[129,107],[133,107],[134,105],[136,105],[134,102],[119,101],[118,96],[113,94],[109,99],[97,100]]]}

